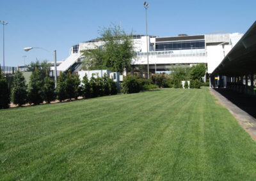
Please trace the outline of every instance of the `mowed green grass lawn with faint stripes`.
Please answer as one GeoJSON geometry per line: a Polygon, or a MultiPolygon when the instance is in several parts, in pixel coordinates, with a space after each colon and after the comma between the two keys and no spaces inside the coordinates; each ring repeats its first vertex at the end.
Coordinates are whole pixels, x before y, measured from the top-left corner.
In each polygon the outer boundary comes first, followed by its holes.
{"type": "Polygon", "coordinates": [[[0,110],[0,180],[255,180],[256,143],[209,89],[0,110]]]}

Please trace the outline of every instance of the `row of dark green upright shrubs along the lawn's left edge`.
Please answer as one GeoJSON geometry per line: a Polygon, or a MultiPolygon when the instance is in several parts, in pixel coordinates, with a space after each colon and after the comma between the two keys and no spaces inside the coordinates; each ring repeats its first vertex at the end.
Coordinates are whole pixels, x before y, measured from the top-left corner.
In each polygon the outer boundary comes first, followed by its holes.
{"type": "Polygon", "coordinates": [[[57,88],[54,88],[54,81],[48,75],[43,78],[42,73],[38,70],[33,71],[30,76],[29,84],[26,85],[25,78],[17,71],[13,76],[12,90],[8,89],[6,79],[0,75],[0,108],[8,108],[10,101],[15,105],[39,105],[44,101],[51,103],[58,99],[77,99],[95,98],[98,96],[107,96],[117,94],[116,83],[109,76],[104,75],[102,78],[92,78],[88,80],[87,76],[83,77],[83,83],[76,74],[61,74],[58,78],[57,88]]]}

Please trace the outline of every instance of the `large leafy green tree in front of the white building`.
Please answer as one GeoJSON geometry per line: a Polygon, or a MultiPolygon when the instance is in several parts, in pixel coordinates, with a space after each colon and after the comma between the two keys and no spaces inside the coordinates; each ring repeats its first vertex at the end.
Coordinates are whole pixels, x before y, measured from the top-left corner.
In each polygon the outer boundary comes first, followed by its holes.
{"type": "Polygon", "coordinates": [[[103,46],[96,46],[93,50],[83,50],[86,69],[111,69],[111,71],[129,71],[134,57],[132,33],[127,34],[120,26],[104,27],[100,34],[103,46]]]}

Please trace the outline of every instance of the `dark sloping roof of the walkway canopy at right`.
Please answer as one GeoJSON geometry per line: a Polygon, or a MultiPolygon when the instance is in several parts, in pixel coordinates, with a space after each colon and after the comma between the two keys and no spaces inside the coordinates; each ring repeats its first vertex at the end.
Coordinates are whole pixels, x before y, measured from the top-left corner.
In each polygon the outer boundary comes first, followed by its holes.
{"type": "Polygon", "coordinates": [[[241,76],[256,73],[256,21],[225,56],[212,75],[241,76]]]}

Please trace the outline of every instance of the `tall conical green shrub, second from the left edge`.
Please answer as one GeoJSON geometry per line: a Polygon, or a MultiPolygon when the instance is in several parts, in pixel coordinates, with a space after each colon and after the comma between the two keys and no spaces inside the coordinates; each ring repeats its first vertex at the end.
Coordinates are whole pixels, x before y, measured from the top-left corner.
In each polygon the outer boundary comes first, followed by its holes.
{"type": "Polygon", "coordinates": [[[28,85],[24,76],[20,71],[17,71],[13,76],[13,85],[12,85],[12,103],[15,105],[25,105],[28,103],[28,85]]]}

